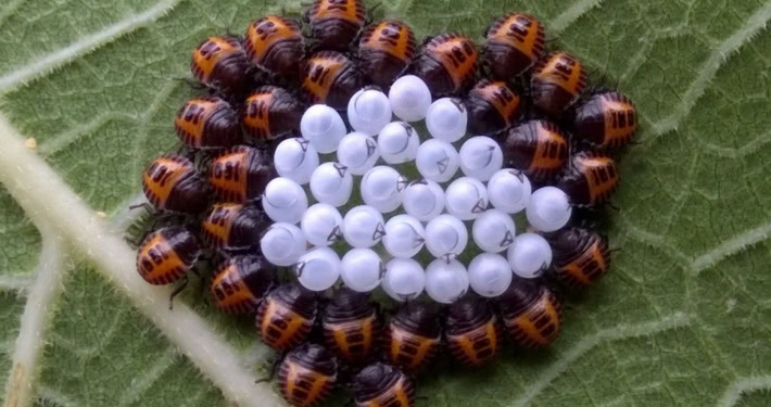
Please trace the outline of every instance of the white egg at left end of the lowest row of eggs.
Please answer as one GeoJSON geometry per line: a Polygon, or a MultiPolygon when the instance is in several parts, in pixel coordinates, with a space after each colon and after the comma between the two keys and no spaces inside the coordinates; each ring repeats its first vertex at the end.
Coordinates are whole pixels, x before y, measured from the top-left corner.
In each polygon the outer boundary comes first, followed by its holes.
{"type": "Polygon", "coordinates": [[[300,256],[294,272],[304,288],[325,291],[340,278],[340,257],[329,247],[312,249],[300,256]]]}

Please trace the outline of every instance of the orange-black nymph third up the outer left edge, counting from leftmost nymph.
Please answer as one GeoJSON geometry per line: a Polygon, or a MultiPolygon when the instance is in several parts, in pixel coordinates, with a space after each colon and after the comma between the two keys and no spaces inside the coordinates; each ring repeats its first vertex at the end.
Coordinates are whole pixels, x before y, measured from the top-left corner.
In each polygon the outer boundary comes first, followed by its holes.
{"type": "Polygon", "coordinates": [[[191,149],[222,149],[243,140],[238,113],[215,97],[185,102],[174,118],[177,137],[191,149]]]}

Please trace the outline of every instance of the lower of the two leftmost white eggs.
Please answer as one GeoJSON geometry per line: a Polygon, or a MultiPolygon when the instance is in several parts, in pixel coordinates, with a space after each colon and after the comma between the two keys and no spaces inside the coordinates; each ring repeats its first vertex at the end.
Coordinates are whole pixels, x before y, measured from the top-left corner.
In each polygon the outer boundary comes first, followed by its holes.
{"type": "Polygon", "coordinates": [[[270,264],[288,267],[298,262],[305,253],[305,236],[296,226],[277,222],[263,232],[260,249],[270,264]]]}

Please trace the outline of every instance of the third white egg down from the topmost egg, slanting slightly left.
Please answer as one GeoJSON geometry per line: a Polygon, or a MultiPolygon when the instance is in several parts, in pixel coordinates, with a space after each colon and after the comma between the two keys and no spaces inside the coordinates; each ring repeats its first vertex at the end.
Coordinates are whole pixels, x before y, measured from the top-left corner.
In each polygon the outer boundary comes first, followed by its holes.
{"type": "Polygon", "coordinates": [[[376,166],[362,177],[362,200],[381,213],[395,211],[402,204],[402,191],[407,183],[395,169],[376,166]]]}

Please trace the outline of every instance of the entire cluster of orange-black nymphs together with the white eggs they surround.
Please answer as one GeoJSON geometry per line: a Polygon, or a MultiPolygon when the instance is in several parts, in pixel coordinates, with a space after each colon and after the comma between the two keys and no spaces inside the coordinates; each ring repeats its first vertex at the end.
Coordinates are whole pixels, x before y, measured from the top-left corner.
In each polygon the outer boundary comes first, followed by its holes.
{"type": "Polygon", "coordinates": [[[551,344],[555,284],[586,288],[610,262],[574,209],[607,203],[636,129],[632,102],[546,52],[529,14],[495,21],[481,52],[454,34],[417,47],[366,14],[316,0],[304,22],[204,40],[191,71],[208,93],[174,120],[185,148],[142,179],[163,227],[141,277],[177,293],[213,264],[213,303],[256,316],[295,406],[336,385],[357,406],[413,406],[414,374],[444,349],[481,366],[504,331],[551,344]],[[382,315],[376,290],[403,305],[382,315]]]}

